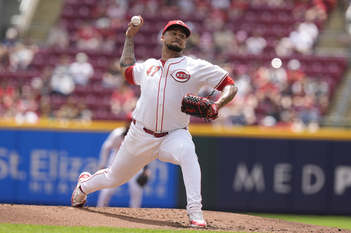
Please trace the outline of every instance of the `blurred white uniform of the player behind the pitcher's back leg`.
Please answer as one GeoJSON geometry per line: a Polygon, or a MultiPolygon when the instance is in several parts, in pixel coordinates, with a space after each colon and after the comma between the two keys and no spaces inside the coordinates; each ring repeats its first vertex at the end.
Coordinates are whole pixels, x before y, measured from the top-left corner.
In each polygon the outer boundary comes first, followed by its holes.
{"type": "MultiPolygon", "coordinates": [[[[114,156],[117,154],[119,147],[125,137],[127,127],[115,128],[106,138],[101,146],[99,154],[99,167],[108,167],[112,164],[114,156]]],[[[143,202],[143,187],[136,180],[143,173],[141,169],[131,180],[128,181],[128,189],[130,193],[129,206],[131,208],[141,208],[143,202]]],[[[97,199],[97,207],[106,207],[110,205],[112,195],[116,193],[117,187],[114,189],[102,189],[97,199]]]]}

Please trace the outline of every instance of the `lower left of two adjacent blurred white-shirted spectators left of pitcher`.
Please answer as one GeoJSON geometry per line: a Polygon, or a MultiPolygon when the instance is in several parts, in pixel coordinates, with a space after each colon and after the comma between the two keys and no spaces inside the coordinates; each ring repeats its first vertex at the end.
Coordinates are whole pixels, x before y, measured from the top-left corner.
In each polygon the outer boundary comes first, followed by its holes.
{"type": "Polygon", "coordinates": [[[75,82],[69,74],[66,74],[63,68],[53,71],[50,80],[51,94],[60,94],[62,96],[69,96],[75,90],[75,82]]]}

